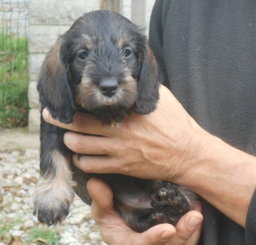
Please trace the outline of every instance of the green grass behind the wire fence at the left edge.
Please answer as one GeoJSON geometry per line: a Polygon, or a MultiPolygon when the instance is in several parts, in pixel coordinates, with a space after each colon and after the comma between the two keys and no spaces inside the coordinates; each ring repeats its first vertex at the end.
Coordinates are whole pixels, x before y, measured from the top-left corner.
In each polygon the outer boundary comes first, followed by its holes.
{"type": "Polygon", "coordinates": [[[28,40],[0,33],[0,127],[25,126],[28,121],[28,40]]]}

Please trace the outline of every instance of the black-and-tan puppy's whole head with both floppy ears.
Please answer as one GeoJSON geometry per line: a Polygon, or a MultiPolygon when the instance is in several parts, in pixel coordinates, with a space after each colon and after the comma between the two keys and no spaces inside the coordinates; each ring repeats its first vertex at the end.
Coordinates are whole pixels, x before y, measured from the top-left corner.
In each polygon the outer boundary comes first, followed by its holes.
{"type": "Polygon", "coordinates": [[[161,74],[142,30],[106,10],[87,13],[60,36],[42,67],[42,106],[70,122],[75,105],[110,114],[154,111],[161,74]]]}

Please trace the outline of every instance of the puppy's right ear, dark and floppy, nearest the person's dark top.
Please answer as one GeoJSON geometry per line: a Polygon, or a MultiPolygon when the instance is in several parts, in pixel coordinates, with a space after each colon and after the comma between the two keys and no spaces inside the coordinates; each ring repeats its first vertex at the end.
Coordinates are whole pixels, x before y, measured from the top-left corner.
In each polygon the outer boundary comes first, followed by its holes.
{"type": "Polygon", "coordinates": [[[143,54],[140,58],[141,71],[138,78],[138,97],[134,110],[139,114],[148,114],[156,108],[159,100],[159,84],[162,83],[162,74],[151,48],[146,39],[143,54]]]}

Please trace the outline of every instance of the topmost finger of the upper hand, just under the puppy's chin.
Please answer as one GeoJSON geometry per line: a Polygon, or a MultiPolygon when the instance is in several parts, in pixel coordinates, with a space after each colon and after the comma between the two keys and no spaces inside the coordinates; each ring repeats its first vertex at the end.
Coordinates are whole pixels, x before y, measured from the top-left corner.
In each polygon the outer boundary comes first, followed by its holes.
{"type": "Polygon", "coordinates": [[[42,111],[42,118],[49,124],[65,128],[75,132],[108,136],[111,132],[111,125],[103,125],[101,120],[96,119],[95,115],[76,112],[70,124],[64,124],[57,119],[53,119],[47,108],[42,111]]]}

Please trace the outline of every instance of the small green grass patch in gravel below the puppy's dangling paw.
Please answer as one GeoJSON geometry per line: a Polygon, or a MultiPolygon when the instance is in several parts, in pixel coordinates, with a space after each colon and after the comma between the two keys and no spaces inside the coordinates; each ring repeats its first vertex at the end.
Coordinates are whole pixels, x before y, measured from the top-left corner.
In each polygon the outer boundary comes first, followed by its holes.
{"type": "Polygon", "coordinates": [[[56,230],[33,228],[29,231],[28,242],[35,242],[38,245],[49,244],[59,245],[60,235],[56,230]]]}

